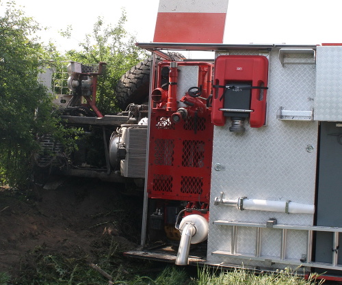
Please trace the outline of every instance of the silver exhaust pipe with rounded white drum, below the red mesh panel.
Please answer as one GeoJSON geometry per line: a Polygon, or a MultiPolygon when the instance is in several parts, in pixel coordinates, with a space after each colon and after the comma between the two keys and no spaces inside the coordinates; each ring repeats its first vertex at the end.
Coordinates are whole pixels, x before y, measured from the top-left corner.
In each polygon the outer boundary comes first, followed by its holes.
{"type": "Polygon", "coordinates": [[[208,238],[209,225],[207,219],[201,215],[184,217],[179,226],[181,242],[176,257],[176,265],[189,264],[190,244],[201,243],[208,238]]]}

